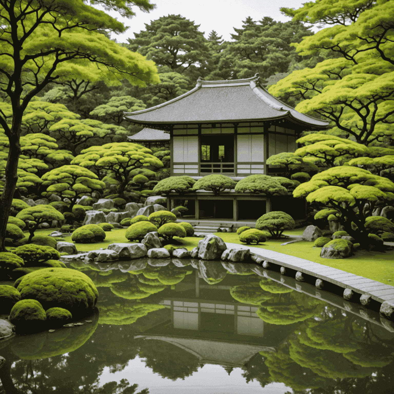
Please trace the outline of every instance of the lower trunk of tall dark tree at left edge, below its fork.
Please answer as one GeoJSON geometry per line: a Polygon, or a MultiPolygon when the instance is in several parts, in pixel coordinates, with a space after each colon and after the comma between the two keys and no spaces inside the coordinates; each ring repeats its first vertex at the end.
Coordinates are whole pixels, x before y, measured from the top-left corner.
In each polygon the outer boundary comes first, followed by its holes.
{"type": "Polygon", "coordinates": [[[11,129],[12,134],[9,138],[6,183],[4,185],[3,194],[0,197],[0,242],[2,252],[6,252],[4,241],[6,239],[7,220],[18,180],[18,161],[20,155],[19,136],[21,121],[22,115],[16,115],[13,119],[13,125],[11,129]]]}

